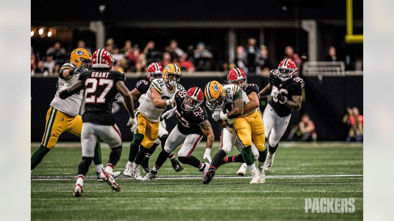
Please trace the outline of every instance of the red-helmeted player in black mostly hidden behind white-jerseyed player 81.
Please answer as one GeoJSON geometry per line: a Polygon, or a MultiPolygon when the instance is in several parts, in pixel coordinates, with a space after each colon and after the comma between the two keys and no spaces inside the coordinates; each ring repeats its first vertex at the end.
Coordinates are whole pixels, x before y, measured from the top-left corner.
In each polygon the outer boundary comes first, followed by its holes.
{"type": "MultiPolygon", "coordinates": [[[[130,94],[133,98],[134,101],[138,100],[139,97],[141,97],[142,94],[145,94],[149,90],[149,85],[152,83],[153,79],[162,79],[163,78],[163,67],[159,63],[151,63],[148,66],[147,69],[147,78],[139,80],[136,84],[136,88],[134,88],[130,94]]],[[[149,173],[151,169],[149,169],[149,158],[151,157],[152,153],[156,149],[156,147],[162,143],[162,149],[164,148],[165,140],[168,138],[168,131],[165,129],[165,120],[161,120],[159,124],[159,134],[158,138],[154,141],[154,144],[152,145],[151,148],[149,148],[147,155],[143,158],[141,161],[141,166],[143,170],[146,173],[149,173]]],[[[131,153],[131,151],[130,151],[131,153]]],[[[129,155],[129,160],[131,159],[132,156],[129,155]]],[[[175,169],[175,171],[179,172],[183,169],[183,166],[178,162],[178,160],[175,158],[174,153],[171,153],[168,158],[171,160],[171,165],[175,169]]],[[[127,173],[127,169],[125,169],[125,172],[127,173]]],[[[126,175],[126,174],[125,174],[126,175]]],[[[130,176],[130,175],[129,175],[130,176]]]]}

